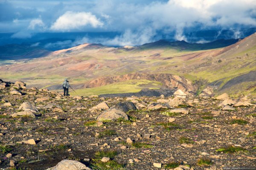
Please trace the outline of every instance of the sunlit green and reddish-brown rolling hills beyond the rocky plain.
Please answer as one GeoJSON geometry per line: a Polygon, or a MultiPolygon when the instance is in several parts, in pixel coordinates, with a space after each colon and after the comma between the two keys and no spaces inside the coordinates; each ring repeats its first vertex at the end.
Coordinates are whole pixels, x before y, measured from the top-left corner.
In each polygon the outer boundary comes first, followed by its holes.
{"type": "MultiPolygon", "coordinates": [[[[152,77],[164,74],[167,77],[177,75],[178,79],[185,77],[187,82],[194,82],[199,88],[194,93],[200,93],[211,85],[216,95],[227,92],[233,97],[253,97],[256,96],[255,73],[256,34],[243,40],[218,40],[206,44],[160,40],[138,47],[113,48],[85,43],[51,52],[46,57],[0,67],[2,79],[23,79],[28,85],[39,88],[60,89],[63,79],[70,77],[73,88],[81,89],[80,95],[86,95],[88,88],[93,94],[93,90],[101,91],[100,87],[106,89],[105,86],[110,84],[120,91],[132,84],[131,89],[135,90],[127,92],[140,91],[151,85],[159,88],[153,82],[166,86],[166,77],[152,77]],[[225,45],[229,46],[223,48],[225,45]],[[138,74],[143,76],[138,78],[138,74]],[[127,78],[120,79],[120,76],[127,78]],[[83,92],[84,88],[87,90],[83,92]]],[[[112,92],[104,91],[105,94],[112,92]]]]}

